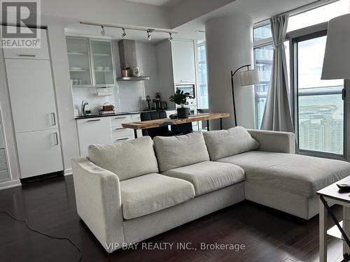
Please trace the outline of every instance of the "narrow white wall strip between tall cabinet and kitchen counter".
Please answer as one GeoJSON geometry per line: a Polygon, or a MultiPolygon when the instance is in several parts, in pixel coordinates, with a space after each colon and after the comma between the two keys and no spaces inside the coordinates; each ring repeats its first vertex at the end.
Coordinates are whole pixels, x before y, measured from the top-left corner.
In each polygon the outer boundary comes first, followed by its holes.
{"type": "Polygon", "coordinates": [[[64,28],[48,27],[52,75],[55,83],[57,115],[64,162],[64,173],[71,173],[71,158],[79,156],[78,133],[73,113],[73,98],[69,79],[69,66],[64,28]]]}

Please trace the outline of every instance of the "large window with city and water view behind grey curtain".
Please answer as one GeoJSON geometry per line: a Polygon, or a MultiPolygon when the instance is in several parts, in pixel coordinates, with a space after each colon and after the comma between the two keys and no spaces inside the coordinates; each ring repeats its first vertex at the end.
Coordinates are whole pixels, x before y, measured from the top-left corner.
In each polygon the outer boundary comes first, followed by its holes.
{"type": "MultiPolygon", "coordinates": [[[[344,154],[344,81],[321,80],[327,25],[320,23],[349,11],[350,0],[339,0],[291,15],[288,20],[285,47],[290,109],[295,119],[299,147],[304,152],[344,154]],[[310,27],[315,24],[318,26],[310,27]]],[[[271,36],[269,24],[253,29],[255,67],[258,68],[260,77],[259,85],[255,85],[256,128],[261,125],[271,77],[271,36]]]]}

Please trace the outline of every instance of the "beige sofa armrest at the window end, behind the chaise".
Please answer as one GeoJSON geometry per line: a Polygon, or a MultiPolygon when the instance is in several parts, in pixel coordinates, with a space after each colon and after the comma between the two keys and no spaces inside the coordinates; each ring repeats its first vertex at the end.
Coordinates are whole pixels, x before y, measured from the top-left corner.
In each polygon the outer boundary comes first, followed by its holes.
{"type": "Polygon", "coordinates": [[[295,136],[290,132],[247,129],[260,143],[259,151],[295,154],[295,136]]]}

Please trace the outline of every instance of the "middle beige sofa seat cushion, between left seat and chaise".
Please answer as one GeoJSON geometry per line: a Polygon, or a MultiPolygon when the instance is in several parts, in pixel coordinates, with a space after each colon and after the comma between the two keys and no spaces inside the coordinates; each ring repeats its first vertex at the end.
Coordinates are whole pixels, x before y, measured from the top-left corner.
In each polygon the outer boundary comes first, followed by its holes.
{"type": "Polygon", "coordinates": [[[196,196],[207,194],[244,180],[244,170],[239,166],[212,161],[174,168],[162,174],[191,182],[195,187],[196,196]]]}

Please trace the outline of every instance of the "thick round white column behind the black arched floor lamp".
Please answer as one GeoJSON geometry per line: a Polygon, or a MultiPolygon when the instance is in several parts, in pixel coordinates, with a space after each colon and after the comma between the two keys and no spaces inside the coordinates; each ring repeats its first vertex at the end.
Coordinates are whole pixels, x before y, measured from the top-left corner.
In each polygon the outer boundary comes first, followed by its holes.
{"type": "MultiPolygon", "coordinates": [[[[235,126],[233,118],[230,71],[245,64],[253,64],[253,26],[248,15],[216,17],[206,22],[207,71],[209,110],[230,112],[223,120],[223,128],[235,126]]],[[[240,87],[235,77],[235,101],[238,125],[254,128],[253,87],[240,87]]],[[[211,124],[218,129],[218,123],[211,124]]]]}

